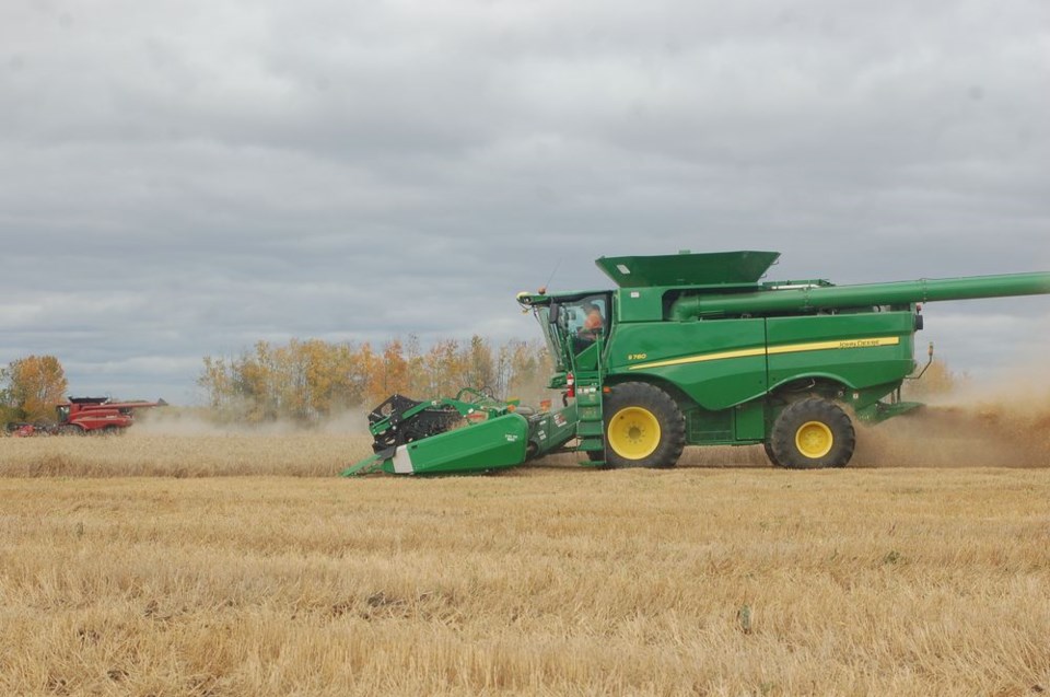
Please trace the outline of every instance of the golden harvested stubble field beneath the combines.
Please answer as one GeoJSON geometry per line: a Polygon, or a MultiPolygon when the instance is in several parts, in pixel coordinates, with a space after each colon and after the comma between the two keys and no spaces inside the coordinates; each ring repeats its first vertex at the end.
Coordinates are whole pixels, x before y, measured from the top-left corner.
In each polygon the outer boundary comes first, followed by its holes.
{"type": "Polygon", "coordinates": [[[972,435],[357,480],[361,437],[0,439],[0,694],[1042,694],[1050,442],[972,435]]]}

